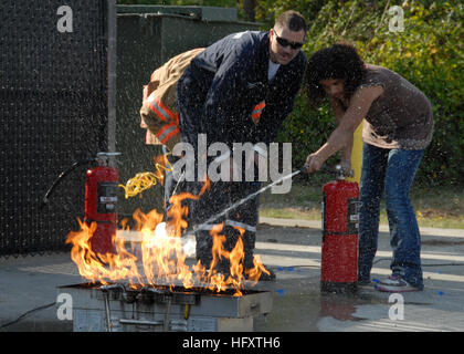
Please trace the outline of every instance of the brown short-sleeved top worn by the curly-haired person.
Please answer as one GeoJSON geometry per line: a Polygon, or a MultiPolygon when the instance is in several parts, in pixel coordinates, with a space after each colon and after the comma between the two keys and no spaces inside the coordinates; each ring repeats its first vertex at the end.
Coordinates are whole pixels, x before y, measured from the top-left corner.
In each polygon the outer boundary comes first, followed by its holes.
{"type": "Polygon", "coordinates": [[[362,86],[382,86],[365,117],[362,139],[382,148],[424,149],[432,140],[433,111],[428,97],[388,69],[367,64],[362,86]]]}

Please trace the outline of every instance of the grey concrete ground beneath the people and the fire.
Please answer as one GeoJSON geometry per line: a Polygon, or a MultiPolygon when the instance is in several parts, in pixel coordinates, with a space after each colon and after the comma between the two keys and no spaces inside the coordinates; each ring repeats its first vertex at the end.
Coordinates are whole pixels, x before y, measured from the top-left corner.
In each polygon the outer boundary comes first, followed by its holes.
{"type": "MultiPolygon", "coordinates": [[[[372,278],[390,274],[388,229],[381,227],[372,278]]],[[[259,332],[464,331],[464,230],[421,229],[425,289],[355,295],[321,294],[320,222],[261,219],[256,253],[275,270],[273,310],[259,332]]],[[[0,331],[72,331],[57,319],[57,287],[83,282],[68,253],[0,259],[0,331]],[[36,311],[32,311],[36,310],[36,311]],[[31,312],[32,311],[32,312],[31,312]]]]}

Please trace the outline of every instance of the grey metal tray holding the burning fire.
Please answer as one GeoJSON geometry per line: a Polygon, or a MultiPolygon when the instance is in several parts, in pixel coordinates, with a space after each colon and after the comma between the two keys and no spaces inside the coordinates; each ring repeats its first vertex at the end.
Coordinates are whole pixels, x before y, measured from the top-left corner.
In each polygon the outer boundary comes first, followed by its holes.
{"type": "Polygon", "coordinates": [[[214,292],[207,288],[81,283],[59,287],[72,296],[75,332],[253,331],[254,319],[272,310],[268,291],[214,292]]]}

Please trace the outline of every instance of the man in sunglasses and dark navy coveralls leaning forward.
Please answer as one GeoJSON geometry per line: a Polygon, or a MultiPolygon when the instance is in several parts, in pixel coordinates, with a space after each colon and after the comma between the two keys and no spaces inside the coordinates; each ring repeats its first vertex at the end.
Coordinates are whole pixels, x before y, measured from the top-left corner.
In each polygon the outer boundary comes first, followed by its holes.
{"type": "MultiPolygon", "coordinates": [[[[230,34],[197,55],[178,83],[181,142],[189,143],[197,153],[199,136],[207,137],[209,145],[224,143],[231,150],[234,143],[251,143],[255,154],[265,153],[256,144],[272,143],[293,110],[306,64],[299,50],[305,37],[304,18],[296,11],[286,11],[268,32],[230,34]]],[[[197,155],[197,166],[201,158],[197,155]]],[[[202,180],[196,180],[187,183],[182,189],[198,194],[202,185],[202,180]]],[[[204,221],[259,188],[257,180],[213,181],[201,198],[191,204],[191,222],[197,226],[197,259],[207,269],[212,260],[210,231],[221,222],[221,235],[226,237],[225,250],[231,251],[241,237],[244,268],[253,267],[259,198],[218,218],[214,225],[204,221]]],[[[220,271],[228,272],[226,262],[222,268],[220,264],[220,271]]],[[[261,280],[274,278],[267,269],[261,280]]]]}

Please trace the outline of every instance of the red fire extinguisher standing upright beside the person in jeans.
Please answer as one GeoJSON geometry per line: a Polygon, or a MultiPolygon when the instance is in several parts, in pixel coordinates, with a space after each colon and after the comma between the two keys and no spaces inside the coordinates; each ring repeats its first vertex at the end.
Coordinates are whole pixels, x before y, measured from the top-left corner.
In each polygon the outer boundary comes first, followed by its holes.
{"type": "Polygon", "coordinates": [[[320,290],[356,292],[358,282],[359,187],[345,180],[341,166],[337,180],[323,187],[323,249],[320,290]]]}

